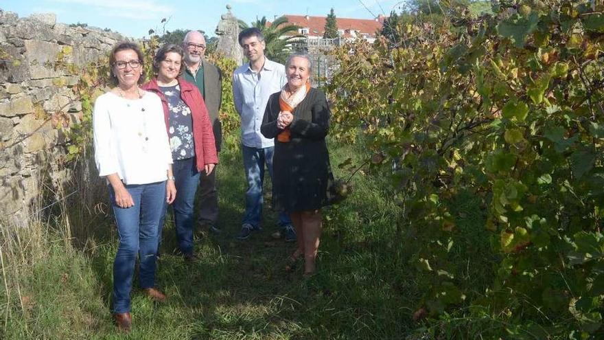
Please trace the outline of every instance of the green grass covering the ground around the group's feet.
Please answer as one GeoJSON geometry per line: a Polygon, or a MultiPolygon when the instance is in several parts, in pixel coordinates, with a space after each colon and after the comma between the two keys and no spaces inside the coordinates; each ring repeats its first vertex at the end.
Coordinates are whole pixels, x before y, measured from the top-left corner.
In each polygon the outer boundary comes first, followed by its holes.
{"type": "MultiPolygon", "coordinates": [[[[336,165],[348,157],[358,164],[363,152],[360,146],[330,150],[338,178],[350,172],[336,165]]],[[[117,233],[106,205],[98,204],[106,202],[102,183],[80,185],[80,198],[54,207],[53,220],[4,227],[0,338],[401,339],[419,326],[412,315],[421,287],[409,268],[406,240],[396,233],[399,207],[383,177],[359,172],[349,198],[325,209],[318,274],[304,279],[301,269],[284,270],[295,246],[271,238],[276,214],[267,205],[264,231],[235,240],[245,190],[239,150],[223,150],[217,169],[224,232],[199,236],[200,260],[189,264],[172,253],[176,240],[168,220],[156,283],[169,300],[154,304],[135,280],[128,335],[111,321],[117,233]],[[29,246],[20,248],[16,236],[29,246]]]]}

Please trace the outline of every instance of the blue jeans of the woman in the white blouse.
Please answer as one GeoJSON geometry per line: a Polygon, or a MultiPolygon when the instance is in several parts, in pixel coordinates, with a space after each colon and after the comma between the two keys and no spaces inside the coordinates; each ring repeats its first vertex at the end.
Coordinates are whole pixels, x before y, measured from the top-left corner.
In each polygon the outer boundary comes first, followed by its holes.
{"type": "Polygon", "coordinates": [[[126,185],[135,205],[121,208],[115,204],[115,192],[109,185],[109,196],[119,245],[113,262],[113,312],[130,312],[130,291],[135,273],[137,253],[140,259],[139,284],[141,288],[155,286],[155,254],[157,226],[165,202],[165,181],[126,185]]]}

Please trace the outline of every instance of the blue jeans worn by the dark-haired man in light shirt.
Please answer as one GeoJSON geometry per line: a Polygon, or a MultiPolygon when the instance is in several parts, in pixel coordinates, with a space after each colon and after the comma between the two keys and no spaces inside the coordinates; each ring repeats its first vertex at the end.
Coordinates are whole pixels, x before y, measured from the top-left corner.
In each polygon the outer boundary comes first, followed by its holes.
{"type": "MultiPolygon", "coordinates": [[[[262,196],[262,184],[264,183],[264,164],[268,168],[268,174],[272,179],[272,154],[275,151],[274,146],[268,148],[251,148],[241,146],[243,152],[243,166],[248,180],[248,190],[246,191],[246,211],[243,223],[249,223],[254,228],[260,227],[262,218],[262,205],[264,198],[262,196]]],[[[284,227],[291,225],[292,220],[285,212],[279,213],[279,225],[284,227]]]]}

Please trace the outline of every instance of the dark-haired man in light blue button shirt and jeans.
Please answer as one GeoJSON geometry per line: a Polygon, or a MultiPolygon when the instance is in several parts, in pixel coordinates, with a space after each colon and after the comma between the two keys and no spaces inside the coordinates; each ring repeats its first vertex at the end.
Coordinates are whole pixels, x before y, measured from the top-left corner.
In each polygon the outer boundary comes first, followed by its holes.
{"type": "MultiPolygon", "coordinates": [[[[250,61],[235,69],[233,73],[233,99],[235,109],[241,116],[241,141],[243,164],[248,180],[246,191],[246,211],[241,232],[236,236],[245,240],[252,231],[262,229],[262,183],[264,182],[264,165],[272,178],[272,153],[275,141],[266,139],[260,133],[262,118],[268,97],[281,91],[286,84],[285,67],[268,60],[264,56],[264,36],[256,27],[243,30],[239,34],[239,44],[250,61]]],[[[286,240],[294,242],[296,233],[289,216],[279,213],[279,225],[286,240]]]]}

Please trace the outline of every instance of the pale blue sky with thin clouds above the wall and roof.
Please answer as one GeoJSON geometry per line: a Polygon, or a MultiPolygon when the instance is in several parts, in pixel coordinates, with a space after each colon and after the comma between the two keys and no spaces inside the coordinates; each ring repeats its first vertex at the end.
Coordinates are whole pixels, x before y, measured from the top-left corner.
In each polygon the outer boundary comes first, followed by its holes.
{"type": "Polygon", "coordinates": [[[373,19],[373,15],[400,11],[401,0],[0,0],[0,8],[16,12],[19,17],[32,13],[52,12],[60,23],[87,23],[141,38],[150,29],[163,32],[161,19],[167,19],[165,30],[178,28],[204,30],[214,35],[220,14],[233,7],[233,14],[247,23],[257,17],[274,19],[282,14],[325,16],[334,8],[342,18],[373,19]],[[366,8],[367,7],[367,8],[366,8]]]}

